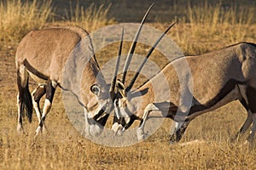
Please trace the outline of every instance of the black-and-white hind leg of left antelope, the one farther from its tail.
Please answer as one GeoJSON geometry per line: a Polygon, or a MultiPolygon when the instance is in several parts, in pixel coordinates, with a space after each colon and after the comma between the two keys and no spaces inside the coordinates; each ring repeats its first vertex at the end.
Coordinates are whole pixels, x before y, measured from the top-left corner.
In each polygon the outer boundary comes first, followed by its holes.
{"type": "Polygon", "coordinates": [[[47,114],[49,113],[49,110],[52,105],[52,100],[54,98],[56,87],[57,87],[57,82],[50,81],[50,80],[47,82],[47,85],[45,87],[46,97],[44,100],[43,116],[41,117],[38,128],[36,130],[36,135],[38,135],[38,133],[41,132],[43,129],[45,118],[46,118],[47,114]]]}

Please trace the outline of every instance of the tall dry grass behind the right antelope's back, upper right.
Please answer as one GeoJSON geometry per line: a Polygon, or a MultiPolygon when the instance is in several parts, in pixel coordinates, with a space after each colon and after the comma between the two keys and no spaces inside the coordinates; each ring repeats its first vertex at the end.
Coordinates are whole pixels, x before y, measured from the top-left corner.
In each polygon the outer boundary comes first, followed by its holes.
{"type": "Polygon", "coordinates": [[[177,26],[177,30],[172,31],[172,38],[185,54],[203,54],[227,44],[253,42],[256,37],[253,31],[254,6],[233,4],[224,8],[222,3],[212,5],[206,1],[199,6],[188,5],[187,10],[187,15],[179,20],[182,27],[177,26]],[[184,28],[184,25],[187,26],[184,28]],[[217,47],[212,47],[212,43],[217,47]]]}

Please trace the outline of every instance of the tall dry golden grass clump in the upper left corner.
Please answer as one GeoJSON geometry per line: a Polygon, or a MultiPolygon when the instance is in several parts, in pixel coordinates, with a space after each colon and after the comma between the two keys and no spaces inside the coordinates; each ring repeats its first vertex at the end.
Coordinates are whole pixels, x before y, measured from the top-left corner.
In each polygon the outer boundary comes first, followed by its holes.
{"type": "Polygon", "coordinates": [[[27,31],[42,28],[52,12],[51,1],[3,0],[0,2],[0,39],[17,43],[27,31]]]}

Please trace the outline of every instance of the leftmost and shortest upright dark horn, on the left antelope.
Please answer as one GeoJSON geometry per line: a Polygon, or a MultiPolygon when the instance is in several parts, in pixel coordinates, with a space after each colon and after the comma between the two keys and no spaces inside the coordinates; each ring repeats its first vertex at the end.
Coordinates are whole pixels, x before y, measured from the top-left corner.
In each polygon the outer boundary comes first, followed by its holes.
{"type": "Polygon", "coordinates": [[[116,59],[115,70],[113,72],[113,79],[112,79],[112,82],[111,82],[111,87],[109,89],[109,92],[113,92],[114,88],[115,88],[116,78],[117,78],[118,71],[119,71],[120,58],[121,58],[121,54],[122,54],[123,39],[124,39],[124,27],[123,27],[123,30],[122,30],[121,41],[120,41],[120,44],[119,44],[119,54],[118,54],[117,59],[116,59]]]}

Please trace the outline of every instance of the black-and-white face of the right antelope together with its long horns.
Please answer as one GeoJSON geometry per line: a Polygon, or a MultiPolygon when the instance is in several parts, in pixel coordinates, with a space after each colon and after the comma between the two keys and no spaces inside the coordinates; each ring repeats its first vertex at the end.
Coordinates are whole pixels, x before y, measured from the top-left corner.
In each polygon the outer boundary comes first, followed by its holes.
{"type": "Polygon", "coordinates": [[[119,133],[119,134],[123,133],[125,129],[130,127],[135,120],[139,119],[137,116],[133,114],[135,109],[131,103],[131,99],[137,96],[136,95],[137,92],[131,92],[131,88],[136,82],[137,77],[142,71],[143,66],[146,64],[149,56],[153,53],[154,48],[156,48],[156,46],[161,41],[161,39],[166,35],[166,33],[174,25],[175,25],[175,22],[166,29],[166,31],[159,37],[159,39],[156,42],[154,42],[153,47],[149,49],[148,54],[145,56],[142,64],[137,69],[135,76],[131,79],[130,84],[127,87],[125,87],[125,76],[131,62],[132,54],[134,53],[134,50],[136,48],[138,34],[134,38],[134,42],[131,45],[130,51],[125,61],[122,79],[116,81],[116,88],[119,95],[114,99],[114,111],[116,116],[116,118],[113,121],[113,127],[112,127],[114,133],[119,133]]]}

